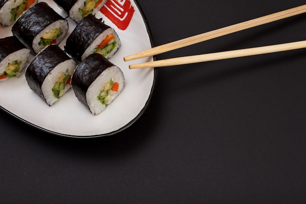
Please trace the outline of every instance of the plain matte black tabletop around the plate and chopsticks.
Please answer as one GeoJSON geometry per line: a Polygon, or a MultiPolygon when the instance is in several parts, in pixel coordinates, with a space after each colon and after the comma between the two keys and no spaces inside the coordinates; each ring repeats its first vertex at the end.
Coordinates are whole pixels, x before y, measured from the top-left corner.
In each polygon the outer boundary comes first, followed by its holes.
{"type": "MultiPolygon", "coordinates": [[[[138,0],[155,45],[304,0],[138,0]]],[[[156,56],[306,40],[306,15],[156,56]]],[[[75,139],[0,111],[1,204],[305,204],[305,49],[158,68],[126,130],[75,139]]]]}

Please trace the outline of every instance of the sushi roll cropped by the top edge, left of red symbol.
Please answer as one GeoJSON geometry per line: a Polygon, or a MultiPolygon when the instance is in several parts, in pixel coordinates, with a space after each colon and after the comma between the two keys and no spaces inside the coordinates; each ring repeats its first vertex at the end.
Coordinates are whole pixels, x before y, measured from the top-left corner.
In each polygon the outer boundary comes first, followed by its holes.
{"type": "Polygon", "coordinates": [[[81,21],[88,14],[95,15],[107,0],[54,0],[74,21],[81,21]]]}

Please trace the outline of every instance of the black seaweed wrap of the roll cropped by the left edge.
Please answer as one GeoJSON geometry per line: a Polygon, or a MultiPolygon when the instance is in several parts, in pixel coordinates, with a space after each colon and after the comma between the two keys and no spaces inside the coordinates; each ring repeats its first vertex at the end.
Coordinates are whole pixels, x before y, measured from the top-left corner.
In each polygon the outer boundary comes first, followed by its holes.
{"type": "Polygon", "coordinates": [[[0,39],[0,62],[18,50],[26,48],[15,36],[9,36],[0,39]]]}

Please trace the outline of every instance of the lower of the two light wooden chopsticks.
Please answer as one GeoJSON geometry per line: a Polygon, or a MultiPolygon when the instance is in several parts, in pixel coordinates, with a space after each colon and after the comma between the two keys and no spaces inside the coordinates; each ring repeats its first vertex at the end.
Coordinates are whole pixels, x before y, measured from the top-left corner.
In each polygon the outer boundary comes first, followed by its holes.
{"type": "Polygon", "coordinates": [[[185,65],[185,64],[192,64],[192,63],[199,63],[199,62],[208,62],[208,61],[214,61],[214,60],[245,57],[245,56],[251,56],[251,55],[260,55],[260,54],[281,52],[281,51],[301,49],[301,48],[306,48],[306,41],[298,41],[298,42],[285,43],[285,44],[279,44],[279,45],[268,45],[268,46],[261,46],[261,47],[253,47],[253,48],[246,48],[246,49],[209,53],[209,54],[177,57],[177,58],[171,58],[171,59],[165,59],[165,60],[157,60],[153,62],[146,62],[146,63],[130,65],[129,68],[133,69],[133,68],[168,67],[168,66],[175,66],[175,65],[185,65]]]}

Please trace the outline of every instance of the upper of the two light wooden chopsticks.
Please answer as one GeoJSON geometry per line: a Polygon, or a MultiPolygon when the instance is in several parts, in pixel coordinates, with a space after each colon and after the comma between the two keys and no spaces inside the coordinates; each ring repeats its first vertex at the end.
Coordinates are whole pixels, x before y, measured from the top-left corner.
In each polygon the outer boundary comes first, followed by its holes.
{"type": "Polygon", "coordinates": [[[294,7],[288,10],[284,10],[281,12],[277,12],[274,14],[270,14],[267,16],[263,16],[257,19],[249,20],[249,21],[242,22],[242,23],[237,23],[237,24],[230,25],[227,27],[219,28],[217,30],[209,31],[209,32],[195,35],[192,37],[188,37],[182,40],[174,41],[172,43],[168,43],[165,45],[159,45],[159,46],[126,56],[123,59],[124,61],[131,61],[131,60],[140,59],[144,57],[154,56],[156,54],[160,54],[160,53],[164,53],[164,52],[174,50],[177,48],[204,42],[204,41],[207,41],[213,38],[224,36],[230,33],[234,33],[237,31],[241,31],[241,30],[255,27],[258,25],[262,25],[265,23],[271,23],[274,21],[278,21],[284,18],[302,14],[305,12],[306,12],[306,4],[302,6],[294,7]]]}

